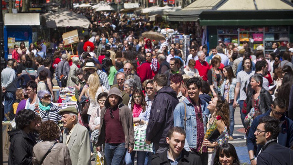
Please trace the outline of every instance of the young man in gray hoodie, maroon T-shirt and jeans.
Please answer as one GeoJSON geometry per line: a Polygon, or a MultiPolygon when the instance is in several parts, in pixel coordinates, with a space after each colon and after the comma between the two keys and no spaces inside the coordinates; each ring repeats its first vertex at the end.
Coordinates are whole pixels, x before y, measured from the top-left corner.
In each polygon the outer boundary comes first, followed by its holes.
{"type": "Polygon", "coordinates": [[[107,164],[122,164],[127,149],[129,153],[133,150],[132,112],[122,101],[120,90],[113,87],[106,98],[105,107],[101,109],[97,151],[101,151],[101,146],[105,143],[107,164]]]}

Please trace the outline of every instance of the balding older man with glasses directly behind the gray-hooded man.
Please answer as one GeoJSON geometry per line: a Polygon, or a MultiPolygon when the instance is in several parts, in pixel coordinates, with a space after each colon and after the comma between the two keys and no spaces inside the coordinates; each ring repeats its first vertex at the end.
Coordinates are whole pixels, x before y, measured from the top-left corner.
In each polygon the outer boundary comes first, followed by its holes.
{"type": "Polygon", "coordinates": [[[117,84],[112,85],[110,89],[116,87],[122,92],[122,99],[123,99],[123,104],[127,105],[130,99],[129,94],[127,94],[124,90],[124,82],[126,80],[126,75],[123,72],[118,72],[116,75],[116,80],[117,84]]]}

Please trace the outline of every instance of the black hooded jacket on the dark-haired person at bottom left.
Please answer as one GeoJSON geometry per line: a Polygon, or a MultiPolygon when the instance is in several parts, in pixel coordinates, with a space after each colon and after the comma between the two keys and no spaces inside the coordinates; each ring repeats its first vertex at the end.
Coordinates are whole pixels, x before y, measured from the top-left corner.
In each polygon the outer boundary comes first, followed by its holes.
{"type": "Polygon", "coordinates": [[[36,144],[32,134],[27,134],[22,129],[12,129],[9,134],[8,165],[33,164],[33,147],[36,144]]]}

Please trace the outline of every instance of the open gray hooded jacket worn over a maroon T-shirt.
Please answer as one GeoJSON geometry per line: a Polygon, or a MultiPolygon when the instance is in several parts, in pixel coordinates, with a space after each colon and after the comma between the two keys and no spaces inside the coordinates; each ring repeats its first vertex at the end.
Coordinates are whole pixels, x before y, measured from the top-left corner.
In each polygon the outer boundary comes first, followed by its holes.
{"type": "Polygon", "coordinates": [[[113,87],[110,89],[108,93],[108,97],[105,101],[105,107],[101,109],[101,121],[100,121],[100,132],[98,135],[98,142],[97,146],[101,146],[103,143],[105,143],[106,138],[106,127],[105,127],[105,121],[104,116],[107,111],[107,108],[109,108],[109,96],[110,95],[117,95],[120,99],[118,101],[118,108],[119,108],[119,120],[123,127],[123,132],[125,135],[125,148],[131,147],[133,148],[134,145],[134,127],[133,127],[133,119],[132,119],[132,112],[130,109],[122,103],[122,95],[118,88],[113,87]]]}

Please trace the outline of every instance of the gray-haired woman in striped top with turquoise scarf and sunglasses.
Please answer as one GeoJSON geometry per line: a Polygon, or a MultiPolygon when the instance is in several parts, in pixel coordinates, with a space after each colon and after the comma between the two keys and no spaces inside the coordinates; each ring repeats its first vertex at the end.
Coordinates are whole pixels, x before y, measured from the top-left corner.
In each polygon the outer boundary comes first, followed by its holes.
{"type": "Polygon", "coordinates": [[[51,93],[47,90],[38,92],[39,97],[39,115],[42,121],[52,120],[56,124],[61,121],[61,115],[58,114],[59,108],[51,102],[51,93]]]}

